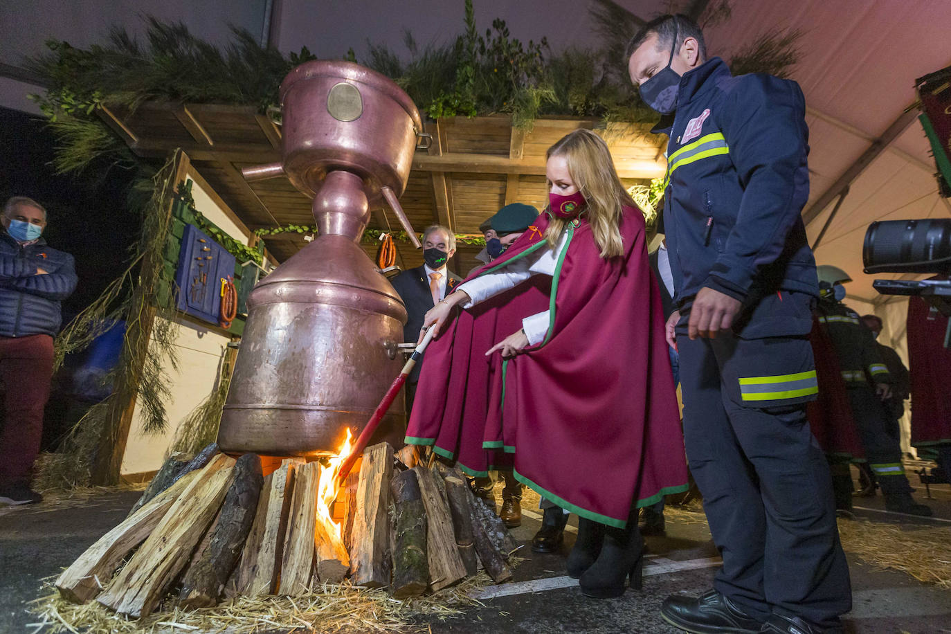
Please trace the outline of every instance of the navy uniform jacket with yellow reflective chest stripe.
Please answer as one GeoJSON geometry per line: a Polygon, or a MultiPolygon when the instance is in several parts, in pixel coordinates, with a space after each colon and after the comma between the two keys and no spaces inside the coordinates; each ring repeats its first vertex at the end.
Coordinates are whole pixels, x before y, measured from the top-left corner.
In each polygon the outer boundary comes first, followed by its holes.
{"type": "Polygon", "coordinates": [[[733,77],[714,57],[684,74],[675,113],[653,131],[670,136],[664,225],[682,311],[705,286],[747,307],[780,290],[818,296],[800,215],[809,146],[799,85],[733,77]]]}

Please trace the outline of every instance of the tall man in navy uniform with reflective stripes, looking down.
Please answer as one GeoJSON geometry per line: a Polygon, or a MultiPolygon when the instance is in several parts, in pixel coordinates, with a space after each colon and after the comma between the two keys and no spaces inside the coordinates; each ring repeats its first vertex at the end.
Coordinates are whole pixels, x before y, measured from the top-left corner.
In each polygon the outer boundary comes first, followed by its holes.
{"type": "Polygon", "coordinates": [[[848,567],[805,415],[818,392],[807,338],[818,284],[800,216],[803,93],[733,77],[682,15],[648,23],[627,57],[670,137],[664,224],[679,311],[668,336],[690,471],[723,554],[712,589],[672,595],[661,613],[691,632],[841,632],[848,567]]]}

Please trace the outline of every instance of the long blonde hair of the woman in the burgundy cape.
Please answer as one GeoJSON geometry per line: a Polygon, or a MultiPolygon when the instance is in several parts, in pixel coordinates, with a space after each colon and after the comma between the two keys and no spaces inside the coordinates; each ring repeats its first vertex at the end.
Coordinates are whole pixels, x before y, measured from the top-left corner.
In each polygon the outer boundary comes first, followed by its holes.
{"type": "MultiPolygon", "coordinates": [[[[588,202],[584,213],[588,215],[594,242],[601,249],[601,257],[622,255],[624,244],[618,228],[621,207],[629,205],[636,208],[637,204],[617,176],[608,144],[591,130],[577,129],[548,148],[545,160],[553,156],[565,157],[572,181],[588,202]]],[[[545,210],[549,210],[547,205],[545,210]]],[[[545,230],[545,239],[554,249],[567,221],[549,215],[552,221],[545,230]]]]}

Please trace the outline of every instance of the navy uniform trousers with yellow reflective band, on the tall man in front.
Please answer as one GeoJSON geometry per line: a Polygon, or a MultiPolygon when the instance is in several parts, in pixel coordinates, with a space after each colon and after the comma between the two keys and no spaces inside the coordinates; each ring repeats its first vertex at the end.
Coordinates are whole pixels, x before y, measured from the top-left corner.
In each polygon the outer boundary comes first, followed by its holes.
{"type": "Polygon", "coordinates": [[[749,400],[739,381],[808,374],[808,339],[690,340],[686,324],[677,329],[684,435],[723,556],[714,588],[762,621],[777,613],[841,627],[852,603],[848,566],[825,455],[805,416],[810,396],[749,400]]]}

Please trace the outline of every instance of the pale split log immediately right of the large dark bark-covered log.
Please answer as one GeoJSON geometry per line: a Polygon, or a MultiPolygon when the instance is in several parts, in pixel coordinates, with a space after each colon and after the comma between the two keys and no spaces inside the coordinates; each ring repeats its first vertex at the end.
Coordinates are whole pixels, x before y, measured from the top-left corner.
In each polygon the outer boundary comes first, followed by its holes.
{"type": "Polygon", "coordinates": [[[286,458],[281,462],[281,468],[264,481],[258,512],[238,567],[235,581],[238,594],[260,597],[278,589],[294,473],[302,464],[303,458],[286,458]]]}

